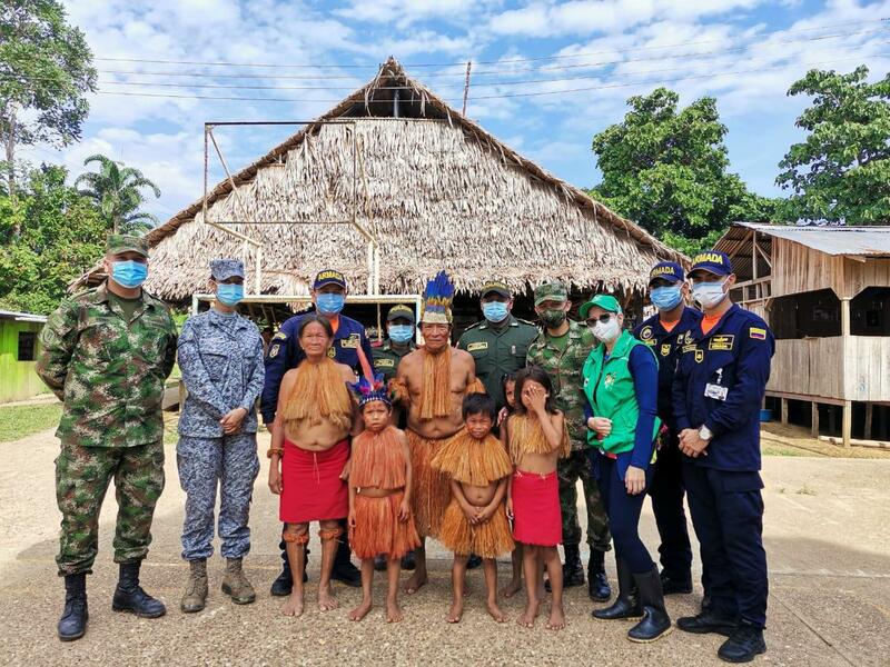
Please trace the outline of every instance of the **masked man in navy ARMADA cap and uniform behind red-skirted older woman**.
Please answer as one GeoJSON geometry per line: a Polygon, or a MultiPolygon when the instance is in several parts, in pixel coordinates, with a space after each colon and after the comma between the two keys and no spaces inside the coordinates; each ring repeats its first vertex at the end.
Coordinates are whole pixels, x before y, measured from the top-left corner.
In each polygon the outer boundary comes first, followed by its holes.
{"type": "MultiPolygon", "coordinates": [[[[334,269],[319,271],[315,277],[312,289],[315,311],[309,315],[319,315],[330,322],[330,328],[334,331],[334,342],[328,348],[327,355],[338,364],[345,364],[354,371],[357,371],[362,366],[363,357],[366,362],[370,364],[372,350],[370,342],[365,336],[365,327],[356,320],[340,315],[346,305],[347,291],[346,278],[344,278],[343,273],[334,269]]],[[[306,358],[306,352],[300,347],[297,337],[297,330],[304,317],[306,316],[291,317],[281,325],[281,329],[273,337],[269,351],[266,354],[266,380],[263,387],[259,410],[263,414],[263,422],[270,431],[273,430],[275,412],[278,407],[281,378],[288,370],[296,368],[306,358]]],[[[287,563],[284,540],[279,542],[278,547],[281,549],[284,568],[278,578],[273,581],[270,593],[275,596],[286,596],[290,595],[294,583],[290,580],[290,566],[287,563]]],[[[346,540],[342,540],[337,547],[337,557],[334,561],[332,578],[354,588],[362,586],[362,576],[349,560],[349,545],[346,540]]]]}

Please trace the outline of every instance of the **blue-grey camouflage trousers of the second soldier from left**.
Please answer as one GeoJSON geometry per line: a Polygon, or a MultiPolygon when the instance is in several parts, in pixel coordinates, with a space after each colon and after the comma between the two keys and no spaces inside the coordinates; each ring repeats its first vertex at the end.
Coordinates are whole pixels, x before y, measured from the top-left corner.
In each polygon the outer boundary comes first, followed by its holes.
{"type": "Polygon", "coordinates": [[[243,558],[250,550],[250,500],[259,474],[257,435],[222,438],[180,436],[176,446],[179,484],[186,491],[182,558],[214,555],[214,508],[219,487],[219,537],[225,558],[243,558]]]}

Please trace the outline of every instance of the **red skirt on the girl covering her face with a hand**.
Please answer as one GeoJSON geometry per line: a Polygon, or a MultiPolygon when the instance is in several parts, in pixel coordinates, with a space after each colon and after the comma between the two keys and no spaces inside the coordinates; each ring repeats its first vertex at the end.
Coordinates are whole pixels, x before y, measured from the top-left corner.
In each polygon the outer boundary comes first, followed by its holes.
{"type": "Polygon", "coordinates": [[[513,538],[525,545],[555,547],[563,541],[563,512],[556,472],[513,474],[513,538]]]}

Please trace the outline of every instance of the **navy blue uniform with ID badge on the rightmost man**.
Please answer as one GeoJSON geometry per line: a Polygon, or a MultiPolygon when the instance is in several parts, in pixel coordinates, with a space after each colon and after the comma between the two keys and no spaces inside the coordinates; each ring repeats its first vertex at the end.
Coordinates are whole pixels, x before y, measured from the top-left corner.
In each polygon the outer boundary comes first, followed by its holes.
{"type": "Polygon", "coordinates": [[[673,385],[676,427],[706,426],[713,434],[708,456],[683,456],[705,595],[715,611],[763,628],[769,584],[760,408],[775,341],[760,317],[733,305],[706,335],[696,327],[680,345],[673,385]]]}

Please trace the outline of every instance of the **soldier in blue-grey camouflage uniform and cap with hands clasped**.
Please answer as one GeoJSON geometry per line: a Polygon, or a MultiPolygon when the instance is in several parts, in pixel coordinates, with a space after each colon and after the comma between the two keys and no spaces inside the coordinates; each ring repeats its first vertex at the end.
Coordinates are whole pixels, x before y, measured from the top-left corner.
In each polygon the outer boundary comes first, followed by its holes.
{"type": "Polygon", "coordinates": [[[254,322],[238,315],[244,298],[244,265],[210,262],[216,301],[185,323],[179,335],[179,368],[188,389],[179,418],[176,460],[186,491],[182,558],[189,580],[179,605],[200,611],[207,603],[207,559],[214,554],[214,507],[219,487],[219,537],[226,558],[222,593],[237,605],[256,599],[241,560],[250,550],[250,498],[259,472],[256,402],[263,391],[263,339],[254,322]]]}

